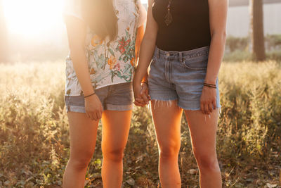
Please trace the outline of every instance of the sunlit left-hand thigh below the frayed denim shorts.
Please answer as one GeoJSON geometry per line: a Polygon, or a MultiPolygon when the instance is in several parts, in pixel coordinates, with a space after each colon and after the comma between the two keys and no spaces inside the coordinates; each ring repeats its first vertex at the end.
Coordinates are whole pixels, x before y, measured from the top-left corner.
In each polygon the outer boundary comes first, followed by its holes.
{"type": "Polygon", "coordinates": [[[177,101],[151,101],[152,117],[160,149],[181,145],[181,116],[177,101]]]}

